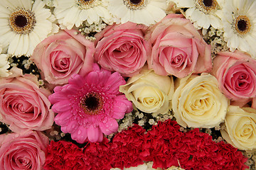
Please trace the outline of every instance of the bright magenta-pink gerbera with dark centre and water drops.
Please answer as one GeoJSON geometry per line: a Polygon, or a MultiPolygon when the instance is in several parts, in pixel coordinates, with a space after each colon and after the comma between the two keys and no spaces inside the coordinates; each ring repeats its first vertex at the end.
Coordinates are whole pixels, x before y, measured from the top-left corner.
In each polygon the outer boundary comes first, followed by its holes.
{"type": "Polygon", "coordinates": [[[79,143],[101,142],[102,133],[116,132],[116,119],[132,111],[132,103],[119,92],[123,84],[126,82],[118,72],[111,74],[97,64],[85,77],[74,74],[68,84],[55,87],[49,96],[53,111],[58,113],[55,123],[79,143]]]}

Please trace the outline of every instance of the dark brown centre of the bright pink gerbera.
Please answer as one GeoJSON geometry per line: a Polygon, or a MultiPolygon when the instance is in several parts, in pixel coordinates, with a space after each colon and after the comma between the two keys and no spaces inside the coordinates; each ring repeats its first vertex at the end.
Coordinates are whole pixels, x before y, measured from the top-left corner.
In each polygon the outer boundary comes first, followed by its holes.
{"type": "Polygon", "coordinates": [[[97,115],[103,107],[102,97],[97,93],[90,92],[82,97],[80,107],[87,115],[97,115]]]}

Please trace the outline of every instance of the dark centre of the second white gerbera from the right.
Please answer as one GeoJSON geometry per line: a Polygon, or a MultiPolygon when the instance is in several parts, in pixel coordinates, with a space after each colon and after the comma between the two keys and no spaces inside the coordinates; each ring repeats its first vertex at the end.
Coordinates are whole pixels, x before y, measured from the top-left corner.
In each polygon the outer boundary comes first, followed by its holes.
{"type": "Polygon", "coordinates": [[[216,0],[195,0],[196,7],[203,13],[210,13],[218,8],[216,0]]]}

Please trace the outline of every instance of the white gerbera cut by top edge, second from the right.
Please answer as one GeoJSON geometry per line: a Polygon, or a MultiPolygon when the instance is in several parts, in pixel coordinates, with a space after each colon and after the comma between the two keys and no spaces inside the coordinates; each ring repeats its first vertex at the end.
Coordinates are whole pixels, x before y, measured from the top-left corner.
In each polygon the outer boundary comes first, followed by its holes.
{"type": "Polygon", "coordinates": [[[222,6],[224,0],[168,0],[174,1],[178,8],[188,8],[186,18],[190,19],[196,28],[222,28],[222,6]]]}

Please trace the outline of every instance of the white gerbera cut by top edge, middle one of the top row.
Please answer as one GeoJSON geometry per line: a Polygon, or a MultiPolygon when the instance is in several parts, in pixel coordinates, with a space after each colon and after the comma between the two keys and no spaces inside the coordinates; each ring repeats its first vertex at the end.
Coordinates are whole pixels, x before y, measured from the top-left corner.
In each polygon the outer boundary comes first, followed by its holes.
{"type": "Polygon", "coordinates": [[[149,26],[166,16],[166,7],[166,0],[110,0],[108,8],[121,23],[131,21],[149,26]]]}

